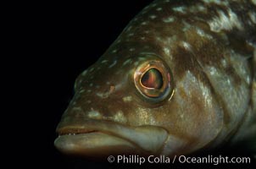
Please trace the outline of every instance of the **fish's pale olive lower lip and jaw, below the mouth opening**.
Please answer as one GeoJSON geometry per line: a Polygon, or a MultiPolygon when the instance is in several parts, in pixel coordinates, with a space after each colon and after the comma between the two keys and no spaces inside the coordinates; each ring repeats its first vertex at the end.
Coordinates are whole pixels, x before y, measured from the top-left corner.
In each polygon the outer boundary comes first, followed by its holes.
{"type": "Polygon", "coordinates": [[[107,155],[144,153],[136,144],[132,144],[128,140],[101,132],[59,135],[54,144],[65,154],[96,158],[107,155]]]}

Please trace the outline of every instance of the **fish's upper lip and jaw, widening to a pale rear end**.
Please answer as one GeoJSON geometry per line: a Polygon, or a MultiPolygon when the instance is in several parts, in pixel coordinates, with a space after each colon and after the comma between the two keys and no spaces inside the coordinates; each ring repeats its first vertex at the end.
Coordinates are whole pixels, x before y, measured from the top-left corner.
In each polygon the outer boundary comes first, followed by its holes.
{"type": "MultiPolygon", "coordinates": [[[[72,119],[72,118],[71,118],[72,119]]],[[[168,133],[164,128],[157,126],[136,126],[115,123],[106,120],[79,119],[72,122],[58,124],[57,133],[63,135],[79,135],[103,133],[124,139],[148,152],[157,153],[164,146],[168,133]]]]}

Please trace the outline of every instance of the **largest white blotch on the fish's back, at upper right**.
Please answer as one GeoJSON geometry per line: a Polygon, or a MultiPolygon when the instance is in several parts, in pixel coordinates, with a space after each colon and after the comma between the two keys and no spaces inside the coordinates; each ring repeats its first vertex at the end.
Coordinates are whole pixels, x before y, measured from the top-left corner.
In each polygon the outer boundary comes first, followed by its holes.
{"type": "Polygon", "coordinates": [[[220,30],[232,30],[237,28],[242,30],[242,23],[237,18],[237,14],[233,13],[231,9],[228,9],[228,16],[223,11],[218,11],[219,18],[215,17],[209,21],[210,29],[214,32],[220,32],[220,30]]]}

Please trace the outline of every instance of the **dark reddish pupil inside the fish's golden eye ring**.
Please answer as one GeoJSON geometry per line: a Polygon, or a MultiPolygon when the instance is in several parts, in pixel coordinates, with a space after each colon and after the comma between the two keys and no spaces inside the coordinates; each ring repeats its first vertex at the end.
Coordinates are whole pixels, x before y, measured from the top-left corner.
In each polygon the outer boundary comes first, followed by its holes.
{"type": "Polygon", "coordinates": [[[141,79],[142,85],[147,88],[161,89],[163,86],[163,76],[156,68],[150,68],[141,79]]]}

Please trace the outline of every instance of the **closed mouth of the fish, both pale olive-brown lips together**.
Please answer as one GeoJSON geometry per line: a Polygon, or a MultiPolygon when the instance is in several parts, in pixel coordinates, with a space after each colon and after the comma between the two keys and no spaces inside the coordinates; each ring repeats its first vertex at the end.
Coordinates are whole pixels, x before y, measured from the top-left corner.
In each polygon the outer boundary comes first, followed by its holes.
{"type": "Polygon", "coordinates": [[[106,155],[158,155],[168,138],[164,128],[131,127],[88,119],[83,123],[59,123],[54,145],[65,154],[102,157],[106,155]]]}

